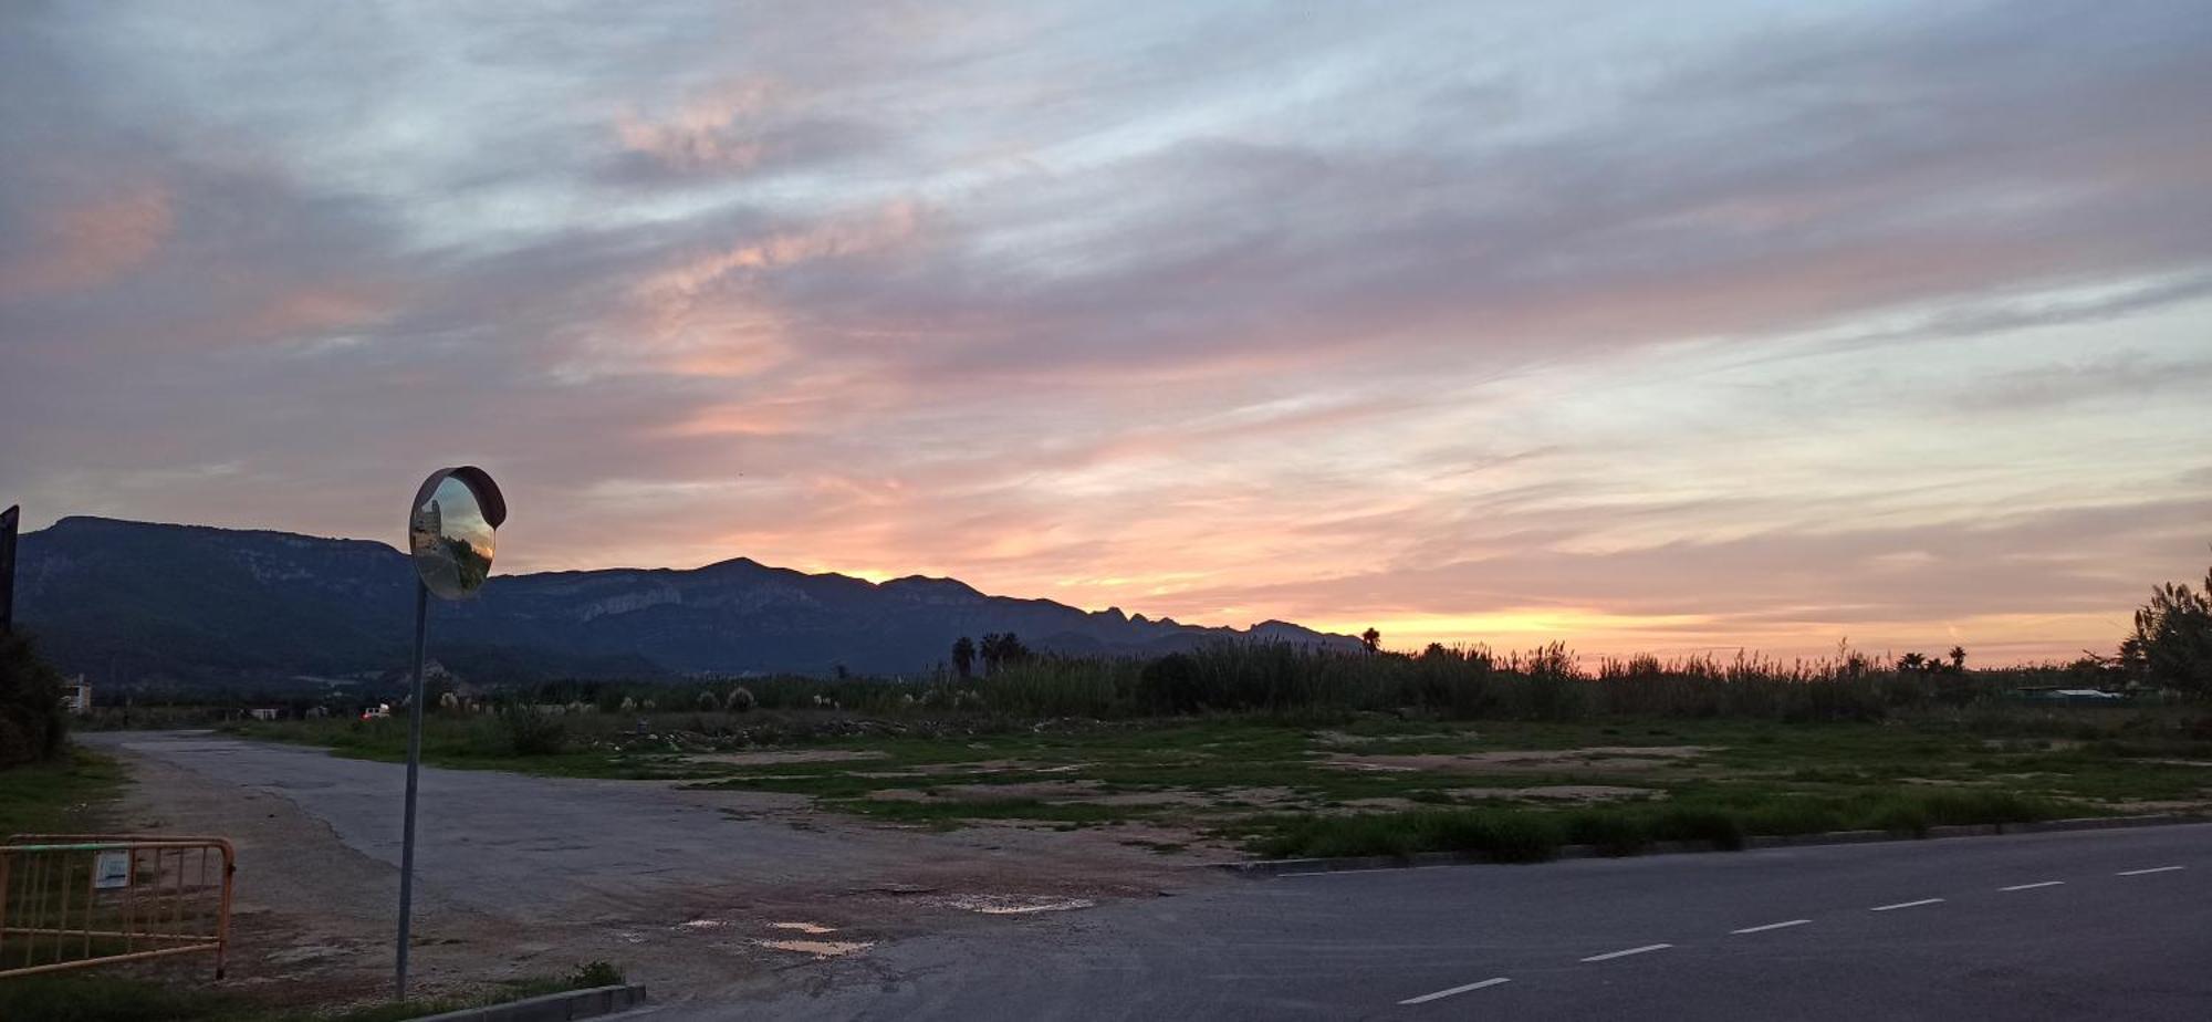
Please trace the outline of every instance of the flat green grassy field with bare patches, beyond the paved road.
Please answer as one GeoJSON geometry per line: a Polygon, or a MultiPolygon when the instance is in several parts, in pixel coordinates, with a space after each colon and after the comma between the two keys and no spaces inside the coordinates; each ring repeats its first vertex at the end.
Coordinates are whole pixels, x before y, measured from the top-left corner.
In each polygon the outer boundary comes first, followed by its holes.
{"type": "MultiPolygon", "coordinates": [[[[1613,681],[1595,681],[1610,686],[1613,681]]],[[[847,715],[849,717],[849,715],[847,715]]],[[[984,730],[830,734],[792,712],[757,712],[728,750],[803,748],[872,752],[872,759],[812,763],[695,763],[655,752],[613,752],[611,715],[564,717],[571,748],[515,757],[489,715],[438,715],[427,723],[427,759],[440,765],[498,768],[553,776],[686,779],[701,788],[801,794],[816,805],[896,823],[956,827],[962,821],[1099,825],[1119,818],[1190,832],[1279,834],[1243,827],[1267,818],[1329,814],[1369,799],[1458,812],[1566,814],[1553,821],[1566,843],[1630,854],[1657,841],[1736,847],[1745,836],[1825,830],[1920,834],[1947,823],[2037,818],[2053,803],[2068,814],[2130,812],[2130,801],[2212,803],[2212,728],[2192,706],[1898,710],[1880,723],[1761,717],[1597,717],[1449,721],[1422,715],[1363,712],[1325,723],[1281,715],[1186,715],[1150,721],[1000,721],[984,730]],[[787,721],[776,723],[776,721],[787,721]],[[1460,757],[1482,752],[1694,745],[1701,752],[1650,765],[1641,757],[1590,754],[1559,763],[1478,763],[1438,759],[1413,770],[1347,770],[1343,757],[1460,757]],[[991,799],[993,785],[1077,781],[1088,792],[1179,792],[1159,805],[1084,803],[1068,796],[991,799]],[[1648,792],[1635,803],[1548,805],[1515,799],[1542,785],[1606,785],[1648,792]],[[982,799],[894,801],[883,790],[971,788],[982,799]],[[1480,790],[1480,792],[1462,792],[1480,790]],[[1936,792],[1951,792],[1936,796],[1936,792]],[[1991,807],[1995,805],[1995,807],[1991,807]],[[1239,830],[1243,827],[1243,830],[1239,830]]],[[[659,715],[653,726],[684,726],[697,715],[659,715]]],[[[911,717],[905,719],[914,723],[911,717]]],[[[633,719],[635,723],[635,719],[633,719]]],[[[878,721],[883,723],[883,721],[878,721]]],[[[400,759],[405,721],[285,721],[243,734],[332,745],[338,754],[400,759]]],[[[690,734],[686,748],[719,741],[690,734]]],[[[710,745],[712,748],[712,745],[710,745]]],[[[1398,763],[1407,765],[1407,763],[1398,763]]],[[[1026,794],[1026,792],[1024,792],[1026,794]]],[[[1336,823],[1316,825],[1321,830],[1336,823]]],[[[1431,827],[1433,830],[1433,827],[1431,827]]],[[[1318,832],[1316,832],[1318,834],[1318,832]]],[[[1318,838],[1316,838],[1318,841],[1318,838]]],[[[1338,841],[1338,838],[1329,838],[1338,841]]],[[[1360,847],[1436,836],[1352,841],[1360,847]]],[[[1294,843],[1296,845],[1296,843],[1294,843]]],[[[1307,852],[1296,852],[1307,854],[1307,852]]]]}

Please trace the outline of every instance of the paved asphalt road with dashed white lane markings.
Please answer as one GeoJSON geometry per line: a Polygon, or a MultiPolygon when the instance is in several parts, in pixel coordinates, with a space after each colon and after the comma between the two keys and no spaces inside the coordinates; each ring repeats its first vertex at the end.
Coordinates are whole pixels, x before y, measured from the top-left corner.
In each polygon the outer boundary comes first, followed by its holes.
{"type": "Polygon", "coordinates": [[[639,1018],[2205,1020],[2212,825],[1248,880],[639,1018]]]}

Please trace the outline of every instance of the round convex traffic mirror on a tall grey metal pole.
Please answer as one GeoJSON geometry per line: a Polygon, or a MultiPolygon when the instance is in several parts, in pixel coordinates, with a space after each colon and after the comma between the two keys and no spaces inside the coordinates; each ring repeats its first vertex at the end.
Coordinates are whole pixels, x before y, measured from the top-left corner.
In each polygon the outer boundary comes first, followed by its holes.
{"type": "Polygon", "coordinates": [[[422,768],[422,635],[429,597],[469,599],[491,575],[491,531],[507,520],[507,498],[484,469],[438,469],[407,507],[407,553],[416,564],[416,664],[407,684],[407,823],[400,832],[400,947],[394,998],[407,1000],[407,938],[414,909],[414,803],[422,768]]]}

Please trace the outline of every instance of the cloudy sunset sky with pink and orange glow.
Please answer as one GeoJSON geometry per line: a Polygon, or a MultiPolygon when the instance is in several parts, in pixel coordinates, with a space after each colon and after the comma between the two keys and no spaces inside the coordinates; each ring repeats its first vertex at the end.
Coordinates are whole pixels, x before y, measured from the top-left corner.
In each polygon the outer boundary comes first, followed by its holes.
{"type": "Polygon", "coordinates": [[[2212,562],[2194,0],[4,20],[27,526],[1969,664],[2212,562]]]}

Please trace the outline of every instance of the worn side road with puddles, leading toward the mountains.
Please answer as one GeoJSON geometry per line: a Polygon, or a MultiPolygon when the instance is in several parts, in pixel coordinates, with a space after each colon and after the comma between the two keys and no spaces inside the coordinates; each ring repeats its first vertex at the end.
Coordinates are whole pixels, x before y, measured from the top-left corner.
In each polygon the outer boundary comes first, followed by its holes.
{"type": "MultiPolygon", "coordinates": [[[[237,843],[239,984],[383,993],[403,768],[206,732],[84,741],[133,768],[126,830],[237,843]]],[[[675,995],[779,969],[803,982],[818,953],[1208,883],[1088,832],[933,834],[655,781],[425,770],[418,825],[411,960],[429,991],[588,960],[675,995]]]]}

